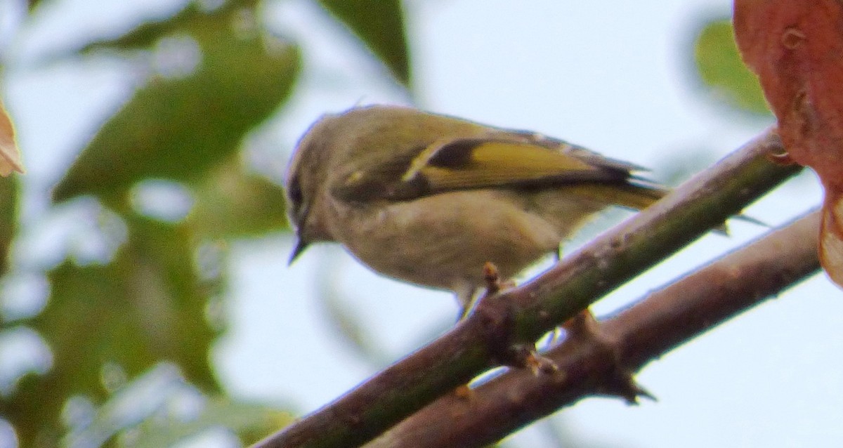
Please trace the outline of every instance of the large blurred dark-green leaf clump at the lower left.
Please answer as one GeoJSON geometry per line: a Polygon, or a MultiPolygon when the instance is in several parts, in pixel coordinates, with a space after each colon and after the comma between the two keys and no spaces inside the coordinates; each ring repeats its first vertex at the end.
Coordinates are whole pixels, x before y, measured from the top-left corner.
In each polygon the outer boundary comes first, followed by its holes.
{"type": "Polygon", "coordinates": [[[52,368],[24,376],[13,395],[0,400],[22,446],[36,436],[56,437],[68,397],[105,398],[106,364],[136,376],[169,360],[197,386],[219,390],[208,350],[220,329],[209,325],[206,309],[208,291],[222,280],[199,279],[194,238],[184,227],[132,217],[128,228],[128,242],[111,263],[66,261],[48,274],[51,295],[30,326],[49,344],[52,368]]]}

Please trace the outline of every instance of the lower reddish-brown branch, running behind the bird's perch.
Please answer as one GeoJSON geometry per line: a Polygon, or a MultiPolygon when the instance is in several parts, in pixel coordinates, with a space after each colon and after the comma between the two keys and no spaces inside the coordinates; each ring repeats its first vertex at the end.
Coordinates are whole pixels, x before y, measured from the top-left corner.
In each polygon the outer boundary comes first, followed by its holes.
{"type": "Polygon", "coordinates": [[[614,394],[618,365],[637,371],[815,274],[818,228],[814,211],[604,321],[600,333],[606,344],[566,340],[550,350],[545,355],[559,367],[555,375],[507,371],[468,397],[439,398],[366,448],[412,446],[418,440],[429,448],[485,446],[583,397],[614,394]]]}

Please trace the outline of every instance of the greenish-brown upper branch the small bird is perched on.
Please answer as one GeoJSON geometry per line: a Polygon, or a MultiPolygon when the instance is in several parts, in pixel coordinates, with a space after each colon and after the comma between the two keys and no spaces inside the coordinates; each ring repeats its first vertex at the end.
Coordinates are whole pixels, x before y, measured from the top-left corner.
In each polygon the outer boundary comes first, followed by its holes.
{"type": "Polygon", "coordinates": [[[797,167],[768,160],[771,152],[783,151],[775,133],[765,132],[544,275],[481,301],[441,338],[255,446],[353,446],[372,440],[496,365],[501,352],[490,341],[532,344],[797,173],[797,167]]]}

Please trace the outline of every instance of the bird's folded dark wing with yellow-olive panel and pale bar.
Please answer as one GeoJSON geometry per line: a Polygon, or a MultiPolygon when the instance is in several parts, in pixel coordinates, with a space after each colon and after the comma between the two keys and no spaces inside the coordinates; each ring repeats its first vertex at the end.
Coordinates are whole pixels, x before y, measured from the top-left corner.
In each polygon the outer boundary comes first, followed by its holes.
{"type": "MultiPolygon", "coordinates": [[[[411,161],[355,171],[336,185],[333,193],[346,200],[368,201],[413,200],[463,189],[565,184],[626,188],[633,179],[630,172],[636,169],[639,167],[546,137],[457,138],[436,141],[411,161]]],[[[654,184],[636,189],[650,190],[650,196],[663,195],[663,189],[654,184]]]]}

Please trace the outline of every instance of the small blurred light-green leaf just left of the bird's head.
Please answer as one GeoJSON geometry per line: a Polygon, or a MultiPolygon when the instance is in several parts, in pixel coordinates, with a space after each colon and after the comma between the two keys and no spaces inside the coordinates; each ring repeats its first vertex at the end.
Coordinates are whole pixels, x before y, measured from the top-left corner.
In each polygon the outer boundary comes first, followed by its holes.
{"type": "Polygon", "coordinates": [[[220,165],[196,188],[187,225],[208,237],[243,237],[285,230],[284,190],[239,161],[220,165]]]}

